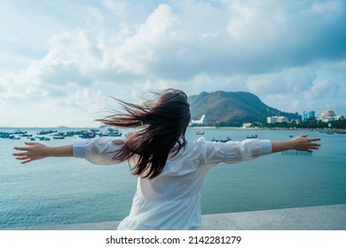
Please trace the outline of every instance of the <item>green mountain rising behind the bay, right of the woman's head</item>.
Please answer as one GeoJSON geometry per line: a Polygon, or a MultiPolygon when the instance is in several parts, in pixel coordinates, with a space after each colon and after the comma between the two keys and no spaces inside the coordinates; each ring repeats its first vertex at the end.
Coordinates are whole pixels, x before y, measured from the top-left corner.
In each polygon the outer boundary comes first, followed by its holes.
{"type": "Polygon", "coordinates": [[[268,116],[286,116],[300,119],[297,113],[281,112],[263,104],[259,97],[248,92],[201,92],[189,97],[192,119],[206,115],[208,126],[234,126],[242,122],[266,122],[268,116]]]}

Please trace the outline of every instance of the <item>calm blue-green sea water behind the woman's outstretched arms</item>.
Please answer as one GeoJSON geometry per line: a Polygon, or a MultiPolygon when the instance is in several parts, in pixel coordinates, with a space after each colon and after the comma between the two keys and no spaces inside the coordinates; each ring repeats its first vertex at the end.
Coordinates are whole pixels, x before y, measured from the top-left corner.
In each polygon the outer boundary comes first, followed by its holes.
{"type": "MultiPolygon", "coordinates": [[[[41,130],[21,129],[32,134],[41,130]]],[[[312,155],[276,153],[237,165],[214,167],[201,191],[202,213],[346,204],[346,135],[284,130],[199,130],[205,132],[207,140],[227,136],[243,140],[251,135],[287,140],[303,133],[322,138],[322,148],[312,155]]],[[[187,139],[198,138],[196,131],[188,129],[187,139]]],[[[77,138],[42,143],[60,145],[77,138]]],[[[126,163],[95,166],[83,159],[49,158],[20,165],[12,157],[12,147],[24,141],[24,138],[0,139],[0,229],[120,221],[130,212],[137,181],[126,163]]]]}

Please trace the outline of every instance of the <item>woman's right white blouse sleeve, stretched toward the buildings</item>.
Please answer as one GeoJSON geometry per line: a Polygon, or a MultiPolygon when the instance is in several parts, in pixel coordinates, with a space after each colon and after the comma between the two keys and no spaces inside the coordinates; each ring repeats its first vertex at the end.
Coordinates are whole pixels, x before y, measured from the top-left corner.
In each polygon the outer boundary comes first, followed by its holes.
{"type": "Polygon", "coordinates": [[[203,163],[210,166],[221,162],[239,163],[271,153],[270,140],[246,139],[241,142],[216,143],[200,138],[197,142],[201,145],[203,163]]]}

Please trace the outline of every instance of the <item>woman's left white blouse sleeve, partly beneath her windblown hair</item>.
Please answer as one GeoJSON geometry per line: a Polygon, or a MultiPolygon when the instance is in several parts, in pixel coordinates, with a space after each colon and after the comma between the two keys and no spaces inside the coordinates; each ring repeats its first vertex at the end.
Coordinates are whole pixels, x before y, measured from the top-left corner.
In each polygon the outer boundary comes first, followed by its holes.
{"type": "Polygon", "coordinates": [[[114,160],[114,155],[122,149],[123,141],[98,138],[78,140],[73,143],[75,158],[86,159],[96,165],[114,165],[121,161],[114,160]]]}

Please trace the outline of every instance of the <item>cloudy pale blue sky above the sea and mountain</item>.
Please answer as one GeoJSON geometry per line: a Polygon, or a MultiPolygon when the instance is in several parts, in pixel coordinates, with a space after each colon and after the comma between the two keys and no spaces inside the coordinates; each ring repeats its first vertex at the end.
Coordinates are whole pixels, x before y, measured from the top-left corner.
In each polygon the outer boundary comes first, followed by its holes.
{"type": "Polygon", "coordinates": [[[111,97],[167,88],[346,115],[346,1],[0,5],[0,127],[97,127],[111,97]]]}

